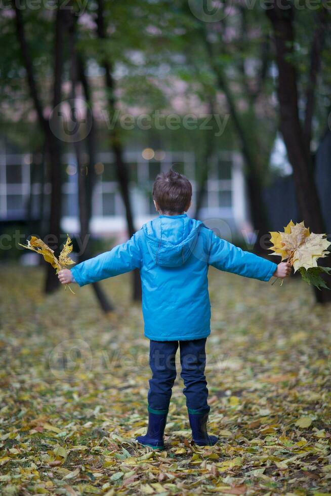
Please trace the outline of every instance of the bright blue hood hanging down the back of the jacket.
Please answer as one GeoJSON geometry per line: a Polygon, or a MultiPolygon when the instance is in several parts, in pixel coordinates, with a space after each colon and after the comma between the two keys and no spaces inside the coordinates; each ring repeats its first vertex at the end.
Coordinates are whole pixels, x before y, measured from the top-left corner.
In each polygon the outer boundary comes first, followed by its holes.
{"type": "Polygon", "coordinates": [[[183,215],[160,215],[143,225],[148,251],[163,267],[179,267],[191,256],[201,221],[183,215]]]}

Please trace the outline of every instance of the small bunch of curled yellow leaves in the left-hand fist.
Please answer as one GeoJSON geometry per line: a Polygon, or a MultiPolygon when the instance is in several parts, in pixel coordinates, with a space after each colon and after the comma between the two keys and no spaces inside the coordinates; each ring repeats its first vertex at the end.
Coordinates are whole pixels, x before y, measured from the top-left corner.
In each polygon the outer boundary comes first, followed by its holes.
{"type": "MultiPolygon", "coordinates": [[[[71,260],[71,258],[69,257],[70,253],[72,252],[72,242],[69,234],[67,234],[67,240],[63,245],[59,258],[54,255],[54,250],[52,250],[42,239],[37,238],[36,236],[31,236],[31,238],[27,240],[27,244],[18,244],[20,246],[23,246],[23,248],[26,248],[27,250],[32,250],[33,252],[42,255],[45,261],[51,264],[52,267],[54,267],[56,273],[74,264],[74,261],[71,260]]],[[[65,285],[65,289],[66,286],[67,284],[65,285]]],[[[71,293],[73,293],[70,286],[69,290],[71,291],[71,293]]]]}

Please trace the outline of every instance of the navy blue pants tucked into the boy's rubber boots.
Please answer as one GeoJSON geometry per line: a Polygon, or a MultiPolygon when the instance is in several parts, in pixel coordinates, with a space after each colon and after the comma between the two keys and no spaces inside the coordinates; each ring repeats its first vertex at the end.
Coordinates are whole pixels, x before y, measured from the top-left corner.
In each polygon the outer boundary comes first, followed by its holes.
{"type": "Polygon", "coordinates": [[[207,403],[208,389],[204,377],[206,338],[191,341],[150,341],[149,364],[152,379],[149,381],[148,408],[168,410],[172,387],[176,379],[176,351],[180,348],[184,381],[183,393],[191,413],[210,410],[207,403]]]}

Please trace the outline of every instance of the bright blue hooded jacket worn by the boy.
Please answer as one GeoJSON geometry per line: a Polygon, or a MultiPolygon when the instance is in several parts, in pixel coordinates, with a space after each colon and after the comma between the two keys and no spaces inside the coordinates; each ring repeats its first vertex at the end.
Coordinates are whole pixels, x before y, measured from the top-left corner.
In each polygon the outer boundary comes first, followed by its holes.
{"type": "Polygon", "coordinates": [[[210,334],[210,265],[262,281],[268,281],[277,268],[183,214],[160,215],[126,243],[76,265],[71,272],[84,286],[138,268],[145,336],[180,341],[210,334]]]}

